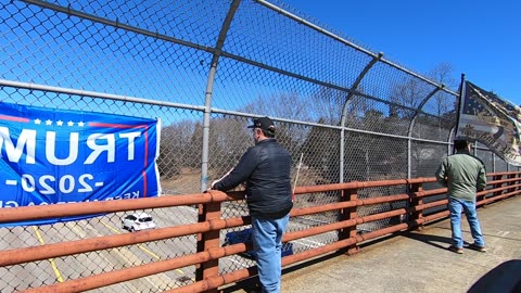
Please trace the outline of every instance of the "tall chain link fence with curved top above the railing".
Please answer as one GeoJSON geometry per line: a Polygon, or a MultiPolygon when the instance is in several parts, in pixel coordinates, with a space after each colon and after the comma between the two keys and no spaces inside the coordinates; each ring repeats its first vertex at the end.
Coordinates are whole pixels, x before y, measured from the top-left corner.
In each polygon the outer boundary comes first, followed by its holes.
{"type": "MultiPolygon", "coordinates": [[[[252,145],[245,126],[258,116],[277,122],[297,186],[432,177],[452,151],[455,91],[296,16],[282,2],[0,0],[0,101],[161,118],[164,195],[201,192],[232,168],[252,145]]],[[[475,154],[487,171],[509,168],[484,148],[475,154]]],[[[369,189],[359,196],[401,192],[369,189]]],[[[334,193],[302,195],[295,206],[338,200],[334,193]]],[[[406,203],[398,205],[358,213],[406,203]]],[[[158,226],[198,221],[193,206],[145,212],[158,226]]],[[[224,217],[241,215],[247,215],[244,202],[224,205],[224,217]]],[[[123,216],[0,228],[2,250],[120,233],[123,216]]],[[[336,218],[295,217],[289,230],[336,218]]],[[[393,220],[402,219],[371,222],[360,232],[393,220]]],[[[303,239],[294,250],[334,240],[333,233],[303,239]]],[[[186,255],[195,242],[180,238],[3,267],[0,291],[186,255]]],[[[240,256],[220,262],[224,272],[253,264],[240,256]]],[[[193,279],[190,267],[103,292],[156,292],[193,279]]]]}

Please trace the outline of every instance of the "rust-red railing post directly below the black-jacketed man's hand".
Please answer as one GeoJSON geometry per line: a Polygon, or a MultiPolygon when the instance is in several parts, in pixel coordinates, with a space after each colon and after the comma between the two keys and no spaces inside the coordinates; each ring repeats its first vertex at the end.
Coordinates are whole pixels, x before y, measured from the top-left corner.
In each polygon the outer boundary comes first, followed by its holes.
{"type": "MultiPolygon", "coordinates": [[[[212,191],[211,191],[212,192],[212,191]]],[[[208,203],[199,205],[199,216],[198,221],[207,221],[211,219],[220,219],[220,203],[208,203]]],[[[209,249],[219,247],[219,230],[208,231],[198,234],[198,253],[204,252],[209,249]]],[[[201,281],[208,277],[214,277],[219,275],[219,259],[213,259],[206,263],[202,263],[196,266],[195,269],[195,280],[201,281]]],[[[215,290],[208,290],[205,292],[217,292],[215,290]]]]}

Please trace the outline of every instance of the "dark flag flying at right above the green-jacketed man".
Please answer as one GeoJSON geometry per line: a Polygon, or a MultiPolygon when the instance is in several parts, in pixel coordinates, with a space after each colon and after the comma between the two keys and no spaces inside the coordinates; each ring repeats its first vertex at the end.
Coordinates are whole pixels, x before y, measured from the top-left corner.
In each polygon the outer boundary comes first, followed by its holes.
{"type": "Polygon", "coordinates": [[[476,140],[508,164],[521,166],[521,109],[463,81],[457,137],[476,140]]]}

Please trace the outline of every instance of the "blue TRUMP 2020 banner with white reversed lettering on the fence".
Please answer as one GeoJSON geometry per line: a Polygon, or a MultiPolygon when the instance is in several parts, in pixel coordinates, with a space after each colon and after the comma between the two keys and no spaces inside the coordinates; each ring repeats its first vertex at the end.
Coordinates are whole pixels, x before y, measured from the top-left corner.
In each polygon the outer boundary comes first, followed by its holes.
{"type": "Polygon", "coordinates": [[[160,131],[155,119],[0,103],[0,208],[157,196],[160,131]]]}

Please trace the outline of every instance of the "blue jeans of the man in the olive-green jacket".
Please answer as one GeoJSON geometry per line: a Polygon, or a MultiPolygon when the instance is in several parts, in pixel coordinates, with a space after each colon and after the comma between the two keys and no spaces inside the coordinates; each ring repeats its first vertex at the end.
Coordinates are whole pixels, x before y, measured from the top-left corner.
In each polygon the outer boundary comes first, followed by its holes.
{"type": "Polygon", "coordinates": [[[485,246],[485,240],[481,232],[480,220],[475,212],[475,201],[463,201],[460,199],[448,198],[448,211],[450,212],[450,230],[453,230],[453,245],[463,247],[461,237],[461,209],[465,212],[467,221],[470,226],[470,233],[474,239],[474,244],[485,246]]]}

